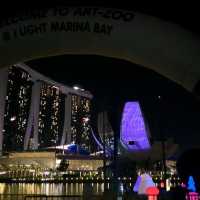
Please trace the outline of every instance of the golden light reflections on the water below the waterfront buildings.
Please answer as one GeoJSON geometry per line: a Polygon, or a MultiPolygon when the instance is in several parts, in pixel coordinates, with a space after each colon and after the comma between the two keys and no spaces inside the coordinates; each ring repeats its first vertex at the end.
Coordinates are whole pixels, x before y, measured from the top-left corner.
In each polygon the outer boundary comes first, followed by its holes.
{"type": "MultiPolygon", "coordinates": [[[[107,188],[109,185],[107,184],[107,188]]],[[[0,194],[29,194],[29,195],[82,195],[84,191],[95,194],[104,192],[103,183],[0,183],[0,194]]]]}

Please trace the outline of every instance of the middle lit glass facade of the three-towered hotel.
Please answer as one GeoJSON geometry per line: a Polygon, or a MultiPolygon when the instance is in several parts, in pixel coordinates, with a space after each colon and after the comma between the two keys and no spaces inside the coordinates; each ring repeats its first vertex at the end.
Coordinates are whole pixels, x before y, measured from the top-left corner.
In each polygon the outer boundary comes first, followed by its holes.
{"type": "Polygon", "coordinates": [[[60,144],[64,118],[64,95],[59,88],[42,83],[38,124],[38,147],[60,144]]]}

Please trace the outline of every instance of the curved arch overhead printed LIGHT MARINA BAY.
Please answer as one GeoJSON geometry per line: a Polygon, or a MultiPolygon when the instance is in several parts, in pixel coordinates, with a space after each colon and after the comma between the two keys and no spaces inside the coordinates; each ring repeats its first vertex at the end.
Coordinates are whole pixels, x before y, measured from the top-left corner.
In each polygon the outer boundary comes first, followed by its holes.
{"type": "Polygon", "coordinates": [[[0,67],[69,53],[125,59],[189,91],[200,78],[199,36],[152,16],[101,7],[55,7],[0,20],[0,67]]]}

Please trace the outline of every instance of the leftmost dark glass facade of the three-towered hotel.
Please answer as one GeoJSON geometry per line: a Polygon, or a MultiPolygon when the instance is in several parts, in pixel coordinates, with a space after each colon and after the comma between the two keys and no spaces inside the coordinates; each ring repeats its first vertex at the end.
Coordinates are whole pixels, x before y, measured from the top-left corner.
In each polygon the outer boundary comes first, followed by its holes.
{"type": "Polygon", "coordinates": [[[6,96],[3,149],[23,150],[28,113],[31,103],[32,81],[22,69],[10,67],[6,96]]]}

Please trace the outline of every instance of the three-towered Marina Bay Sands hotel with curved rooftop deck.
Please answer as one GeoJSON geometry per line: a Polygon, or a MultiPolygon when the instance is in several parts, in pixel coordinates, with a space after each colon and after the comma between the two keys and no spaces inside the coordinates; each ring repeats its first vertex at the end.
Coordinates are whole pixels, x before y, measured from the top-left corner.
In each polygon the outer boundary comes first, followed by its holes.
{"type": "Polygon", "coordinates": [[[90,92],[57,83],[25,64],[1,70],[0,151],[75,143],[92,152],[91,99],[90,92]]]}

